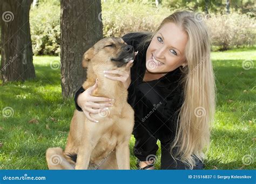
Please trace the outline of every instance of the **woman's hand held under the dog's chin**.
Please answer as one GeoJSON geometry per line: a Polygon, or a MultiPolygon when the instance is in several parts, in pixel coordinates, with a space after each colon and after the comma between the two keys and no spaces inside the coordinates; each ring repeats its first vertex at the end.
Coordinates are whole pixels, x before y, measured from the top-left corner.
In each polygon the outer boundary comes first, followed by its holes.
{"type": "Polygon", "coordinates": [[[107,79],[115,80],[115,81],[121,81],[124,84],[125,89],[128,89],[131,83],[131,66],[132,66],[133,60],[130,60],[125,67],[125,71],[120,71],[118,69],[114,70],[105,70],[105,77],[107,79]],[[109,74],[117,74],[119,76],[111,76],[109,74]]]}

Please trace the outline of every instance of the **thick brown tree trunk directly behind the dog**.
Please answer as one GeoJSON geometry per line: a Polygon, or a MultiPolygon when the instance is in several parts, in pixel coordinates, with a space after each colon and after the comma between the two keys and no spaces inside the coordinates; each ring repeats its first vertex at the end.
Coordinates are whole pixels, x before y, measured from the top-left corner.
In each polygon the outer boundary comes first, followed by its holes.
{"type": "Polygon", "coordinates": [[[97,1],[61,0],[60,61],[62,96],[73,97],[86,79],[82,56],[103,38],[102,7],[97,1]]]}

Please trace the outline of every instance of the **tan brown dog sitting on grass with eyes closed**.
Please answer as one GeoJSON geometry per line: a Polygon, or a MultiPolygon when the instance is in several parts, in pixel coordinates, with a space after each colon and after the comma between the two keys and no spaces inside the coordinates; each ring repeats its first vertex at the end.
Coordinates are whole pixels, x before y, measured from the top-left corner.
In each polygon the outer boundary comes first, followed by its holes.
{"type": "Polygon", "coordinates": [[[120,38],[104,38],[85,52],[82,65],[87,67],[87,80],[83,88],[93,86],[98,78],[98,88],[92,95],[114,99],[113,106],[109,111],[91,114],[98,123],[75,110],[65,151],[60,147],[46,151],[49,169],[130,169],[134,111],[127,103],[123,83],[107,79],[103,71],[125,70],[135,55],[133,47],[120,38]]]}

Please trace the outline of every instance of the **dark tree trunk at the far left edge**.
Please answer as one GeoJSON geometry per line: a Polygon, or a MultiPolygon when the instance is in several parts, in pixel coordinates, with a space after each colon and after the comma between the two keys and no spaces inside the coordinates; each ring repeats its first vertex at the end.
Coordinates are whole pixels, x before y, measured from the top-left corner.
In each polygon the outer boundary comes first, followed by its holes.
{"type": "Polygon", "coordinates": [[[4,83],[36,76],[29,25],[31,3],[29,0],[2,1],[1,78],[4,83]]]}

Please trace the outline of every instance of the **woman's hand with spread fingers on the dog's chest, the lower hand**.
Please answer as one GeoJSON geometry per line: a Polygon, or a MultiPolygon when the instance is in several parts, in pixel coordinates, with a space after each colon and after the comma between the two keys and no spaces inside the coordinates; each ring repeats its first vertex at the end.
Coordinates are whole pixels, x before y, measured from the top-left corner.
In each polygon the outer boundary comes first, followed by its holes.
{"type": "Polygon", "coordinates": [[[108,110],[108,107],[112,106],[113,99],[107,97],[99,97],[99,96],[92,96],[91,94],[98,86],[98,79],[96,80],[95,84],[90,88],[86,89],[83,93],[78,95],[77,97],[77,104],[83,110],[85,116],[92,122],[99,122],[96,119],[93,119],[90,116],[92,114],[98,114],[99,112],[103,112],[108,110]],[[97,102],[105,102],[105,103],[97,103],[97,102]]]}

